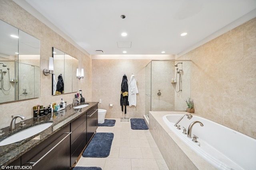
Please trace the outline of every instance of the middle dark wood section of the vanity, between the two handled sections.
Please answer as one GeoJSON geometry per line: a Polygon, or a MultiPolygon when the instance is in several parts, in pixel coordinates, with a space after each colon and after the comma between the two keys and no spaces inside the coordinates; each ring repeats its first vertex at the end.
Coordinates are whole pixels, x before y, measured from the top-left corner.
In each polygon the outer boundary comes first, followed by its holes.
{"type": "Polygon", "coordinates": [[[86,146],[86,113],[70,123],[71,125],[71,148],[70,166],[76,163],[76,159],[86,146]]]}

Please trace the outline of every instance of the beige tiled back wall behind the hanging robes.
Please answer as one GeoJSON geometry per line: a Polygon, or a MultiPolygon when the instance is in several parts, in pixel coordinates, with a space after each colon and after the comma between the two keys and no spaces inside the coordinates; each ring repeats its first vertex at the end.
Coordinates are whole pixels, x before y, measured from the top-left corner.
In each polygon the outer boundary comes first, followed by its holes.
{"type": "Polygon", "coordinates": [[[145,66],[150,60],[144,59],[93,59],[92,60],[92,100],[102,103],[98,105],[106,109],[106,118],[143,117],[145,114],[145,66]],[[120,91],[123,75],[129,82],[132,74],[136,77],[139,93],[137,106],[127,106],[127,114],[121,111],[120,91]],[[113,104],[113,107],[109,107],[113,104]]]}

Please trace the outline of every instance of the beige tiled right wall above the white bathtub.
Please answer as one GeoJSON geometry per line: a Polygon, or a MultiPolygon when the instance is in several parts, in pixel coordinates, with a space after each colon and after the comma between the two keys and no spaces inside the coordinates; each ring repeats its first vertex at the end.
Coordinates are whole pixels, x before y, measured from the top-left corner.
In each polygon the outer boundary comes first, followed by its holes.
{"type": "Polygon", "coordinates": [[[256,139],[256,18],[178,59],[191,59],[195,113],[256,139]]]}

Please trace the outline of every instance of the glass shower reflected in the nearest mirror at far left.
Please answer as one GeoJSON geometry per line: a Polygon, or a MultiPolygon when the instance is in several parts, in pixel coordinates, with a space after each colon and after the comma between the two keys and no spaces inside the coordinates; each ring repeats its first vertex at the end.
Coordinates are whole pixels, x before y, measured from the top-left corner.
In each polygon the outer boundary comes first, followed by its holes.
{"type": "Polygon", "coordinates": [[[18,61],[0,61],[0,103],[39,97],[40,68],[18,61]]]}

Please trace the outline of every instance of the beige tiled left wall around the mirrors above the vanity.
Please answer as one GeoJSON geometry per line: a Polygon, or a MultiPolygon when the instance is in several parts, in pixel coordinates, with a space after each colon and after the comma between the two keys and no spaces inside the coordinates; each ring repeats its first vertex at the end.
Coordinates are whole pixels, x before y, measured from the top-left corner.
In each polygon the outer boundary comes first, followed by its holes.
{"type": "Polygon", "coordinates": [[[0,4],[0,20],[40,39],[40,98],[0,104],[0,127],[10,125],[11,115],[20,114],[24,115],[26,119],[32,118],[33,106],[38,104],[46,106],[50,102],[60,102],[61,98],[64,98],[67,104],[72,103],[75,93],[52,96],[52,76],[43,74],[43,69],[48,68],[52,47],[79,60],[79,68],[84,68],[84,79],[78,80],[78,88],[82,90],[86,101],[92,101],[92,59],[14,1],[1,0],[0,4]]]}

